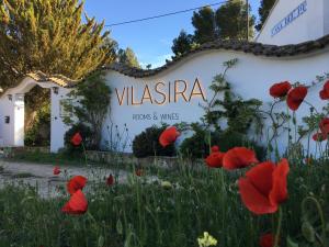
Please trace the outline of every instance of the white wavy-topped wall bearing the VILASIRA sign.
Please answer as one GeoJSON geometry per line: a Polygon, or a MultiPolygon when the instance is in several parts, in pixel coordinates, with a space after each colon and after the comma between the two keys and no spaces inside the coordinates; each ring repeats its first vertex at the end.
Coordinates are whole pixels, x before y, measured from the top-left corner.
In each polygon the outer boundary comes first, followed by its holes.
{"type": "MultiPolygon", "coordinates": [[[[266,58],[261,56],[253,56],[250,54],[226,52],[226,50],[213,50],[204,52],[203,54],[196,54],[194,57],[185,60],[182,64],[177,65],[174,68],[163,71],[158,76],[145,79],[135,79],[127,76],[123,76],[115,71],[107,72],[107,83],[112,88],[112,112],[111,117],[107,117],[104,125],[103,138],[104,142],[109,141],[107,126],[117,125],[118,133],[125,133],[125,128],[128,130],[129,139],[134,139],[134,136],[143,132],[146,127],[154,124],[160,124],[161,120],[133,120],[134,114],[150,114],[156,113],[158,116],[166,113],[179,114],[179,120],[162,121],[168,124],[180,122],[197,122],[204,114],[202,108],[198,105],[202,103],[202,99],[194,99],[192,102],[186,103],[182,100],[178,103],[166,103],[163,105],[151,104],[145,102],[143,105],[120,105],[115,94],[115,88],[121,92],[124,87],[135,87],[138,91],[136,100],[141,97],[141,90],[145,85],[150,88],[156,82],[163,81],[167,86],[168,82],[174,80],[186,80],[191,83],[194,82],[197,77],[203,83],[203,88],[206,91],[207,97],[211,97],[208,87],[216,74],[220,74],[224,70],[223,63],[232,58],[238,58],[238,65],[228,71],[227,79],[231,82],[232,90],[241,96],[245,100],[256,98],[264,102],[264,105],[272,101],[269,96],[269,88],[274,82],[283,80],[291,80],[292,82],[300,81],[310,85],[315,80],[316,76],[328,72],[329,50],[322,50],[321,53],[314,54],[311,56],[299,56],[293,58],[266,58]]],[[[191,90],[191,88],[189,89],[191,90]]],[[[319,110],[325,104],[319,100],[318,92],[319,86],[311,88],[307,100],[313,102],[319,110]]],[[[152,91],[154,93],[154,91],[152,91]]],[[[286,105],[282,104],[279,110],[286,111],[286,105]]],[[[297,111],[298,123],[302,123],[302,116],[308,115],[309,106],[302,105],[297,111]]],[[[114,127],[114,136],[115,127],[114,127]]],[[[286,135],[285,135],[286,136],[286,135]]],[[[126,138],[124,134],[123,139],[126,138]]],[[[263,142],[265,141],[263,136],[263,142]]],[[[281,151],[286,146],[286,137],[283,137],[281,143],[281,151]]],[[[314,147],[315,148],[315,147],[314,147]]],[[[125,148],[126,151],[131,151],[131,147],[125,148]]]]}

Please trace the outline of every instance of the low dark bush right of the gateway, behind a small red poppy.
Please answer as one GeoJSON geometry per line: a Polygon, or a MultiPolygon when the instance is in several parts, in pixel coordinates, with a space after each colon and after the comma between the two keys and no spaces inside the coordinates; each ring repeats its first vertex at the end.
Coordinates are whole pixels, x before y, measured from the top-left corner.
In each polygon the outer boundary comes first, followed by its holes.
{"type": "Polygon", "coordinates": [[[80,135],[82,137],[84,148],[89,149],[89,150],[95,149],[95,146],[92,145],[92,142],[91,142],[92,133],[91,133],[90,127],[86,126],[84,124],[79,123],[79,124],[72,125],[71,128],[65,133],[64,143],[65,143],[65,147],[66,147],[66,153],[81,154],[83,151],[82,145],[75,146],[71,143],[71,138],[78,132],[80,133],[80,135]]]}

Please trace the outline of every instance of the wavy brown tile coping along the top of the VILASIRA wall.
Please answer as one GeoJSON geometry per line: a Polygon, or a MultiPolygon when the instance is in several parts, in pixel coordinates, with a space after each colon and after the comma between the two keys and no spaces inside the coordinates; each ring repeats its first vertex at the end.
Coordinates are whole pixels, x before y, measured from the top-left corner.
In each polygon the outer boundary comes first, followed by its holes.
{"type": "Polygon", "coordinates": [[[171,68],[179,61],[186,59],[191,55],[204,50],[225,49],[225,50],[234,50],[234,52],[243,52],[246,54],[252,54],[254,56],[292,57],[292,56],[316,52],[327,46],[329,46],[329,35],[326,35],[316,41],[309,41],[299,44],[283,45],[283,46],[266,45],[266,44],[247,42],[247,41],[218,40],[215,42],[205,43],[193,50],[186,52],[179,57],[174,57],[171,61],[168,61],[166,65],[159,68],[139,69],[139,68],[133,68],[126,65],[115,63],[104,67],[103,69],[114,70],[129,77],[145,78],[145,77],[155,76],[163,70],[167,70],[168,68],[171,68]]]}

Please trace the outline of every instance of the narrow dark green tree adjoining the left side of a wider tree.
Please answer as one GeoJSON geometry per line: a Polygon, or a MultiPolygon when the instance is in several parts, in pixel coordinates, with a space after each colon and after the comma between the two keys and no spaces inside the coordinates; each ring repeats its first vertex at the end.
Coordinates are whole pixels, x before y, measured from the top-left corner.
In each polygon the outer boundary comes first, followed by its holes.
{"type": "Polygon", "coordinates": [[[192,24],[195,27],[194,40],[198,44],[216,40],[215,12],[211,7],[205,7],[198,12],[194,12],[192,24]]]}

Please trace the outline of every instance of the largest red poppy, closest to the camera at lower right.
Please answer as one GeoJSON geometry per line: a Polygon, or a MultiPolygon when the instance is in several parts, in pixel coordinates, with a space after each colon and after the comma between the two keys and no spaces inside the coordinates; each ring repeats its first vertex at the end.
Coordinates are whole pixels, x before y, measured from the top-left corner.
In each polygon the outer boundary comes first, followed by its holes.
{"type": "Polygon", "coordinates": [[[254,214],[275,213],[287,199],[288,171],[288,161],[282,159],[277,166],[271,161],[259,164],[240,178],[239,191],[247,209],[254,214]]]}

